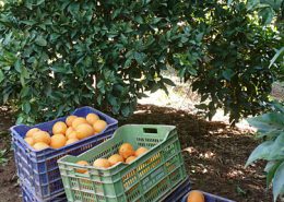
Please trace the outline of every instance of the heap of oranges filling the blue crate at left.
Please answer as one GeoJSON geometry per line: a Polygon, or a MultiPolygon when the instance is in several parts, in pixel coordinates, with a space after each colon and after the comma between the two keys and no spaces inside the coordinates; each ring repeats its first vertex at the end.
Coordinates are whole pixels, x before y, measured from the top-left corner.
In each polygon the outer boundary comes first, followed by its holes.
{"type": "Polygon", "coordinates": [[[52,135],[38,128],[28,130],[25,141],[35,150],[47,147],[60,148],[80,140],[86,139],[102,132],[107,122],[100,120],[96,114],[88,114],[85,118],[71,115],[66,122],[58,121],[52,127],[52,135]]]}

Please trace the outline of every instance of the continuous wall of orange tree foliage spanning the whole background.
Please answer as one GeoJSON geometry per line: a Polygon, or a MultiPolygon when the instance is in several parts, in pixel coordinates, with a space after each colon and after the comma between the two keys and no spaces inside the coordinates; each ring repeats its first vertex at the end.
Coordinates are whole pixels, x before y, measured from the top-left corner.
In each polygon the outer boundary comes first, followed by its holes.
{"type": "MultiPolygon", "coordinates": [[[[270,7],[270,5],[269,5],[270,7]]],[[[249,1],[7,0],[0,14],[1,103],[19,122],[91,105],[129,116],[144,92],[191,80],[212,117],[232,121],[265,110],[279,33],[262,26],[249,1]],[[205,102],[209,98],[211,102],[205,102]]],[[[272,14],[271,14],[272,13],[272,14]]],[[[261,16],[262,16],[261,15],[261,16]]]]}

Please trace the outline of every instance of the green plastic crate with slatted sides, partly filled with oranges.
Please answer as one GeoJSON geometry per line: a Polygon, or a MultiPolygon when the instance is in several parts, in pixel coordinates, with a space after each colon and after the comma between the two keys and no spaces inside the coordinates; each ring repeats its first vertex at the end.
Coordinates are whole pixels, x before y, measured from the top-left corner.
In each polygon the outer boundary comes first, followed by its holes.
{"type": "Polygon", "coordinates": [[[181,148],[174,126],[127,124],[114,136],[79,156],[64,156],[58,161],[69,202],[155,202],[169,195],[187,179],[181,148]],[[118,147],[131,143],[149,148],[131,164],[119,163],[108,169],[80,166],[90,165],[99,157],[118,153],[118,147]],[[79,174],[78,168],[87,169],[79,174]]]}

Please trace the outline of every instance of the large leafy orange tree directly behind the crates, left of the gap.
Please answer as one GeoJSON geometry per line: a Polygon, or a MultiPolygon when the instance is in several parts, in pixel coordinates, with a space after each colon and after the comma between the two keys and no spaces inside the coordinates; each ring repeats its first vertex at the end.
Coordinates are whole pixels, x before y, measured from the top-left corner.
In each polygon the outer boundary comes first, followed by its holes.
{"type": "Polygon", "coordinates": [[[175,54],[190,56],[200,44],[199,31],[177,25],[184,7],[126,0],[7,3],[2,102],[21,107],[19,122],[61,116],[80,105],[129,116],[144,91],[173,84],[161,71],[181,60],[175,54]]]}

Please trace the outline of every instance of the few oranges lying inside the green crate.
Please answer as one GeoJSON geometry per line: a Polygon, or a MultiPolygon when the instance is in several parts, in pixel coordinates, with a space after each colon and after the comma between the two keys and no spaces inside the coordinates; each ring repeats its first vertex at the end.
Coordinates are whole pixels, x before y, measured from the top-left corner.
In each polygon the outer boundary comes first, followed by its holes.
{"type": "MultiPolygon", "coordinates": [[[[139,147],[138,150],[134,150],[133,146],[130,143],[123,143],[117,154],[113,154],[108,158],[97,158],[93,166],[96,168],[109,168],[111,166],[117,165],[118,163],[127,163],[130,164],[133,162],[137,157],[145,154],[147,152],[147,148],[145,147],[139,147]]],[[[90,164],[85,161],[79,161],[76,164],[83,165],[83,166],[90,166],[90,164]]],[[[76,169],[78,173],[85,174],[86,169],[76,169]]]]}

